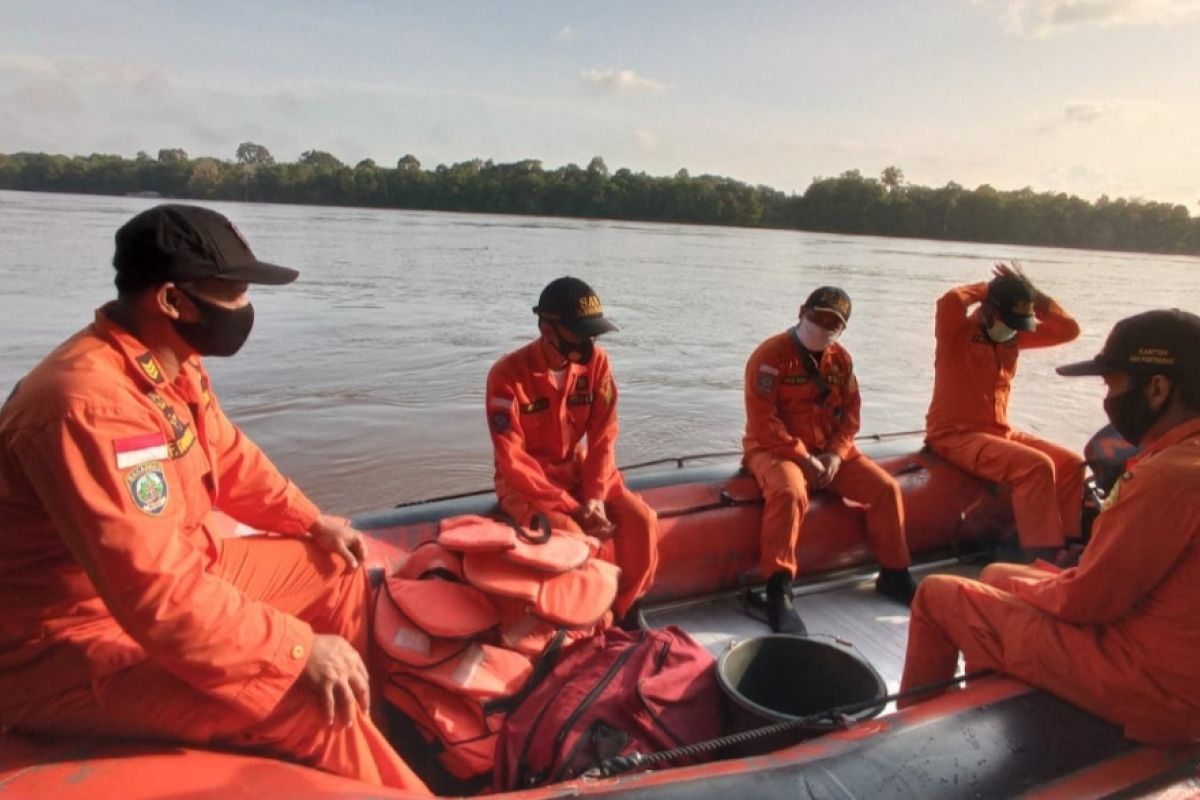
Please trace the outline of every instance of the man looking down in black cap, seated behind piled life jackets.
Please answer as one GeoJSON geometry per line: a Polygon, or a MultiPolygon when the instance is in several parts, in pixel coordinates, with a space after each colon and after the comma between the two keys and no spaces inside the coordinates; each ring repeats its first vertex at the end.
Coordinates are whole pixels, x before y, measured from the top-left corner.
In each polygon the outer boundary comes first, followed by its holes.
{"type": "Polygon", "coordinates": [[[620,567],[613,613],[622,627],[644,627],[638,599],[658,566],[658,517],[617,470],[617,385],[595,345],[617,326],[572,277],[551,281],[533,312],[539,337],[487,373],[496,494],[522,525],[540,513],[552,528],[611,540],[620,567]]]}

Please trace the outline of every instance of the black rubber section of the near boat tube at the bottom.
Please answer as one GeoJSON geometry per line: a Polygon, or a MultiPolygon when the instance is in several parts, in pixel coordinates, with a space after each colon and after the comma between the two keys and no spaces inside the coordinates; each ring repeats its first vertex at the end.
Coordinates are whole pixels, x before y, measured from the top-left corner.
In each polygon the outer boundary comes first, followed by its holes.
{"type": "Polygon", "coordinates": [[[828,758],[743,775],[622,787],[623,800],[1012,798],[1138,745],[1032,692],[901,728],[828,758]]]}

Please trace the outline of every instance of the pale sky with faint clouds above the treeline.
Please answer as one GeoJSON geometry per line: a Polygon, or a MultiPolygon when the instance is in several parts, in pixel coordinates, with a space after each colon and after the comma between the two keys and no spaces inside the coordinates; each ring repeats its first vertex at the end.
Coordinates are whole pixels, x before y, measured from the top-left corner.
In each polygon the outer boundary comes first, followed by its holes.
{"type": "Polygon", "coordinates": [[[1200,215],[1200,0],[0,0],[0,152],[685,168],[1200,215]]]}

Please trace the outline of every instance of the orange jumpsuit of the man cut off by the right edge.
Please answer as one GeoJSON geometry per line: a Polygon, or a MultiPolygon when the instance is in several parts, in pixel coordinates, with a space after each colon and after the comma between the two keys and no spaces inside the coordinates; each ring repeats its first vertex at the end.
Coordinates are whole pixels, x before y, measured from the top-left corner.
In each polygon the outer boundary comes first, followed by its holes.
{"type": "Polygon", "coordinates": [[[1200,741],[1200,420],[1147,444],[1079,566],[926,577],[900,688],[1000,669],[1157,745],[1200,741]]]}

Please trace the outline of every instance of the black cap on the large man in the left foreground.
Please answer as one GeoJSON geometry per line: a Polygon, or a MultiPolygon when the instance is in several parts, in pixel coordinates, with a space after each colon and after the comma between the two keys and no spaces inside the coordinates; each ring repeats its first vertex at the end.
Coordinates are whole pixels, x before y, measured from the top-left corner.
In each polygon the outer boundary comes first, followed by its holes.
{"type": "Polygon", "coordinates": [[[300,275],[254,258],[246,237],[223,215],[176,203],[146,209],[116,230],[113,267],[118,287],[204,278],[282,285],[300,275]]]}

